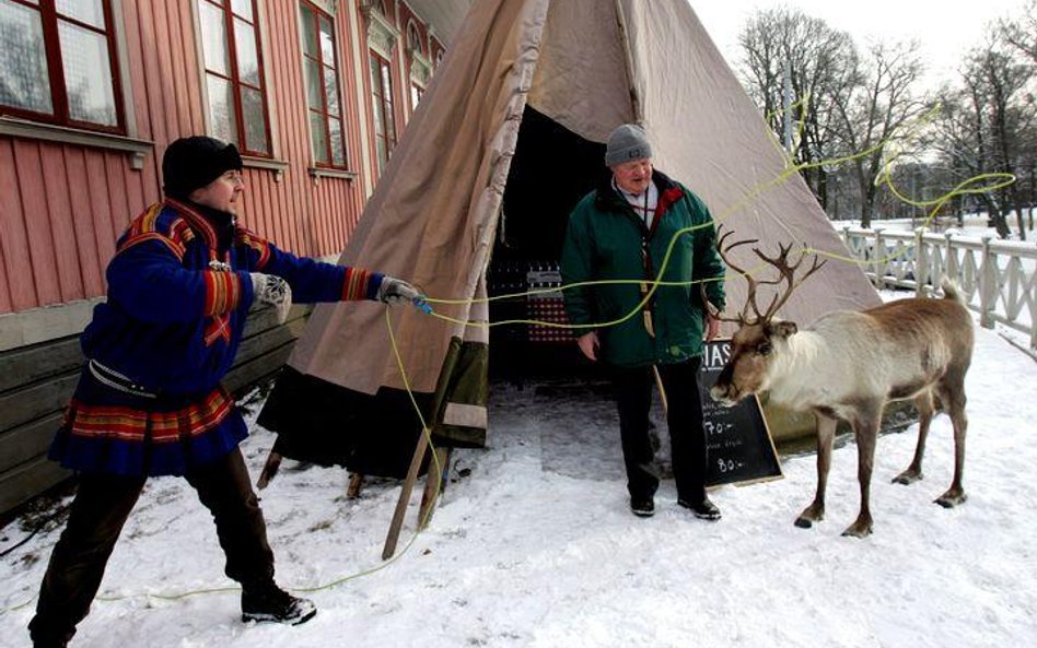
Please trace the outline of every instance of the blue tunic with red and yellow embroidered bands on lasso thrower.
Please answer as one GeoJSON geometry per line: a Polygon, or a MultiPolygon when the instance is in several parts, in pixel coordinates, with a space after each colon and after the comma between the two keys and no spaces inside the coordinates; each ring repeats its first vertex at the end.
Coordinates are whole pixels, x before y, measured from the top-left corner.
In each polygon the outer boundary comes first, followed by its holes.
{"type": "Polygon", "coordinates": [[[50,447],[73,470],[184,474],[247,436],[220,381],[253,303],[250,272],[294,302],[375,299],[382,275],[279,250],[231,214],[171,199],[137,216],[81,342],[88,364],[50,447]]]}

